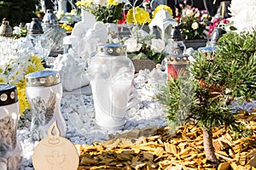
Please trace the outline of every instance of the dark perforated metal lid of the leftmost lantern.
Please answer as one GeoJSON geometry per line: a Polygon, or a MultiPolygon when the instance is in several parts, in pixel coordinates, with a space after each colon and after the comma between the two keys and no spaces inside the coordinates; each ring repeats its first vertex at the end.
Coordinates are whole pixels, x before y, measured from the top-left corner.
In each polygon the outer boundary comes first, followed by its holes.
{"type": "Polygon", "coordinates": [[[11,105],[17,101],[17,88],[10,84],[0,84],[0,106],[11,105]]]}

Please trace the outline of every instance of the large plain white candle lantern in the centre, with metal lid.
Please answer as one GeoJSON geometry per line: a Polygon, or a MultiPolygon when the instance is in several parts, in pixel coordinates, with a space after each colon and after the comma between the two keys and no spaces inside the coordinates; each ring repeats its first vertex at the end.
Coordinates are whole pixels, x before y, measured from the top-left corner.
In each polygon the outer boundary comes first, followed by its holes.
{"type": "Polygon", "coordinates": [[[126,46],[102,44],[89,65],[90,85],[96,110],[96,124],[106,130],[119,130],[126,122],[134,66],[126,46]]]}

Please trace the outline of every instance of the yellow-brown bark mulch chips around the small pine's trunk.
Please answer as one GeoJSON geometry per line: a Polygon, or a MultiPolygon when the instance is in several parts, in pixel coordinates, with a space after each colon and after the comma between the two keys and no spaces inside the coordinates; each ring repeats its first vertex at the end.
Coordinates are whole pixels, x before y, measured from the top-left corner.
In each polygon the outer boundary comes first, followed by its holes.
{"type": "MultiPolygon", "coordinates": [[[[214,128],[213,145],[219,170],[256,170],[256,113],[241,112],[252,134],[234,139],[224,127],[214,128]]],[[[116,134],[104,142],[76,145],[79,170],[203,170],[216,169],[204,154],[202,128],[195,123],[178,127],[147,127],[116,134]]]]}

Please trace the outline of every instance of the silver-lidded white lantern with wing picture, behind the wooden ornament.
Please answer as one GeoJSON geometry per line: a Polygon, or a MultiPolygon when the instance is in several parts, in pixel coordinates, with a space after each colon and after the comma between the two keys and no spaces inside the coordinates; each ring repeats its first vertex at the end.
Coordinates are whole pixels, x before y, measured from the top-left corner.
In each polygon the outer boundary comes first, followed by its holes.
{"type": "Polygon", "coordinates": [[[33,140],[47,136],[50,125],[57,122],[61,136],[67,132],[61,114],[62,85],[58,71],[44,70],[26,75],[26,98],[32,108],[31,133],[33,140]]]}

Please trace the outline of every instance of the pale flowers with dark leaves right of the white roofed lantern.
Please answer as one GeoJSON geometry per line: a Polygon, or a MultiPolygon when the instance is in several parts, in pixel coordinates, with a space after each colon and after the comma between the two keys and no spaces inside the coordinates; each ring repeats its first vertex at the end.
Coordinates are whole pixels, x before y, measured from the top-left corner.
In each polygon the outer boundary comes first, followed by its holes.
{"type": "Polygon", "coordinates": [[[207,38],[207,24],[209,15],[206,10],[191,8],[184,1],[181,10],[176,9],[176,20],[179,23],[183,39],[205,39],[207,38]]]}

